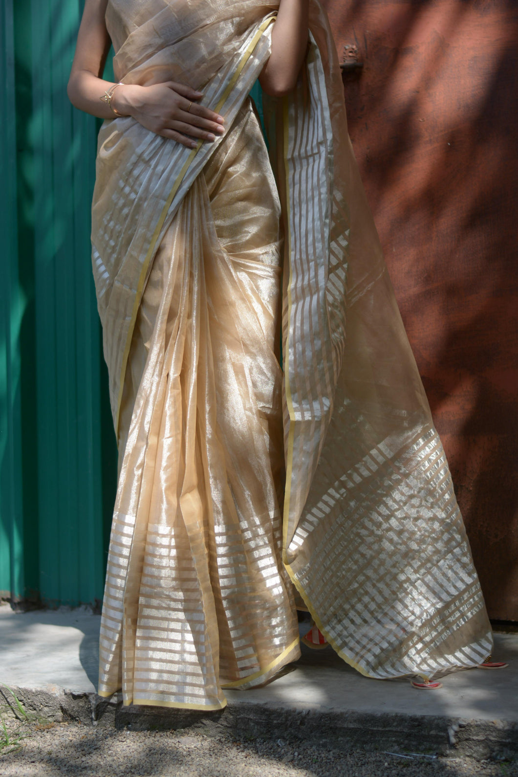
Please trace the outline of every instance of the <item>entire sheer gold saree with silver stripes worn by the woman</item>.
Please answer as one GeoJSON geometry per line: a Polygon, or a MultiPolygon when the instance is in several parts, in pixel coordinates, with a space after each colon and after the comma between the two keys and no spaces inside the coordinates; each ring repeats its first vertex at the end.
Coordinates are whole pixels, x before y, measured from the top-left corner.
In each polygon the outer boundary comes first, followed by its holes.
{"type": "Polygon", "coordinates": [[[99,135],[93,267],[120,475],[99,694],[224,706],[299,655],[297,595],[374,678],[471,667],[492,635],[311,0],[297,88],[249,91],[278,2],[110,0],[117,80],[203,91],[193,151],[99,135]],[[280,368],[282,313],[283,370],[280,368]],[[293,587],[294,586],[294,587],[293,587]]]}

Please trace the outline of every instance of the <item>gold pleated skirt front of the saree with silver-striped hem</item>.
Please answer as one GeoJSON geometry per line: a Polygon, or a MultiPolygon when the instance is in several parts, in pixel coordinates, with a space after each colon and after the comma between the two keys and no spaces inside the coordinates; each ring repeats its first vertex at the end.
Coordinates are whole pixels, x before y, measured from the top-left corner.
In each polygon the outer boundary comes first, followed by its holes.
{"type": "Polygon", "coordinates": [[[141,298],[101,629],[99,688],[122,687],[126,703],[217,709],[221,685],[264,681],[279,656],[298,655],[281,557],[280,206],[267,171],[245,103],[141,298]],[[262,166],[236,203],[252,159],[262,166]],[[228,215],[240,209],[236,234],[228,215]]]}

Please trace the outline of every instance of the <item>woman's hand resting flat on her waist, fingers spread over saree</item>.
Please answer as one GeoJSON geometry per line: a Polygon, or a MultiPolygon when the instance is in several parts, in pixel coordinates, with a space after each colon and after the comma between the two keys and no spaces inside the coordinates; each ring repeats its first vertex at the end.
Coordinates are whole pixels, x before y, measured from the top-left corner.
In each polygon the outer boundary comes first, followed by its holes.
{"type": "Polygon", "coordinates": [[[172,81],[151,86],[123,84],[113,92],[111,103],[117,113],[134,117],[162,138],[196,148],[193,138],[212,142],[224,133],[223,117],[196,104],[202,96],[172,81]]]}

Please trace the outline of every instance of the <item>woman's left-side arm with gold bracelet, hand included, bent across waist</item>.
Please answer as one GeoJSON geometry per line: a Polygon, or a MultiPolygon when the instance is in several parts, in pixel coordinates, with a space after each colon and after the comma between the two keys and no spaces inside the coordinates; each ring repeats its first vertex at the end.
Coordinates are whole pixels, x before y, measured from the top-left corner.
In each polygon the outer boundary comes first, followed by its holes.
{"type": "MultiPolygon", "coordinates": [[[[76,108],[101,119],[116,117],[108,103],[100,99],[114,85],[101,78],[110,51],[110,36],[104,22],[107,3],[108,0],[85,2],[67,89],[76,108]]],[[[113,92],[111,104],[117,113],[134,117],[148,130],[196,148],[193,138],[214,141],[216,134],[224,132],[223,117],[196,105],[202,96],[201,92],[174,82],[152,86],[123,84],[113,92]]]]}

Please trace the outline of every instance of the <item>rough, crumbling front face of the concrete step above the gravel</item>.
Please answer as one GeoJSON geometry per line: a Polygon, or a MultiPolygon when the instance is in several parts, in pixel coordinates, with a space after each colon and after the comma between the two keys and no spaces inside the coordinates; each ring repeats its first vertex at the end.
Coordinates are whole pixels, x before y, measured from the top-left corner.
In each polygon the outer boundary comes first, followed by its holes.
{"type": "Polygon", "coordinates": [[[294,709],[287,706],[229,702],[218,712],[123,707],[95,693],[57,686],[13,688],[23,706],[47,720],[75,720],[89,726],[128,730],[196,730],[209,737],[232,733],[242,740],[304,740],[319,746],[361,747],[368,751],[418,752],[469,758],[516,758],[518,723],[463,720],[401,713],[358,713],[294,709]]]}

